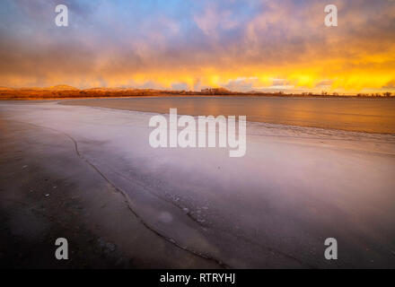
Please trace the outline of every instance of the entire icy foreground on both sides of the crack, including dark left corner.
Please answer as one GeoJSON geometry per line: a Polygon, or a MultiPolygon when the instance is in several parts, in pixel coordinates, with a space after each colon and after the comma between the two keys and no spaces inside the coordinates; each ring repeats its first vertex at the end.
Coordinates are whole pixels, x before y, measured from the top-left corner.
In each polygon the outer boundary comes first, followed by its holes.
{"type": "Polygon", "coordinates": [[[1,103],[2,265],[395,267],[393,135],[250,123],[235,159],[152,149],[151,116],[1,103]]]}

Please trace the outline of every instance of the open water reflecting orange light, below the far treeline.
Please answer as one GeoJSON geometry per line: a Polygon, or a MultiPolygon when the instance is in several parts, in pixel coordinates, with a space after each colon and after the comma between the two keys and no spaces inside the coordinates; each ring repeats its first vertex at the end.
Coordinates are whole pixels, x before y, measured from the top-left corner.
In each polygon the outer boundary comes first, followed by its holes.
{"type": "Polygon", "coordinates": [[[66,100],[67,105],[180,115],[247,116],[248,121],[395,134],[395,99],[153,97],[66,100]]]}

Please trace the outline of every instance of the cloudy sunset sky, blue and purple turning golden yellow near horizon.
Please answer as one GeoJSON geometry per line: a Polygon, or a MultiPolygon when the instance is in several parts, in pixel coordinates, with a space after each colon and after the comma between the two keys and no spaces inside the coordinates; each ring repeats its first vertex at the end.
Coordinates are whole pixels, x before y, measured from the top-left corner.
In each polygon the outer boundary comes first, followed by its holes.
{"type": "Polygon", "coordinates": [[[57,84],[395,91],[395,0],[2,0],[0,86],[57,84]]]}

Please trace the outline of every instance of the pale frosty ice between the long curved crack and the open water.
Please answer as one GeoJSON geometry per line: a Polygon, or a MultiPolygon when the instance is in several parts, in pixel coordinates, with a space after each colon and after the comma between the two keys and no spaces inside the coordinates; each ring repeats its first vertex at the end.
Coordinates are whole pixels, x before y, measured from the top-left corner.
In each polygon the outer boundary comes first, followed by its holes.
{"type": "Polygon", "coordinates": [[[395,135],[253,122],[246,155],[230,158],[152,148],[148,112],[49,102],[0,103],[0,114],[56,130],[71,149],[74,139],[147,226],[198,256],[236,268],[395,267],[395,135]],[[324,258],[327,238],[337,261],[324,258]]]}

